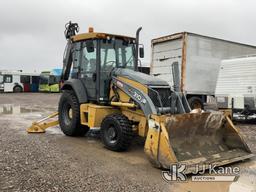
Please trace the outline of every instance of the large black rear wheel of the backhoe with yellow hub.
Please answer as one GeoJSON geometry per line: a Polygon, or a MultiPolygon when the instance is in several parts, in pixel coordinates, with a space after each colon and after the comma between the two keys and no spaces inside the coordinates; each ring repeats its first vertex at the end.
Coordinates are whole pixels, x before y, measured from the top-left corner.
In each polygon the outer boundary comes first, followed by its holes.
{"type": "Polygon", "coordinates": [[[80,106],[73,91],[65,90],[59,101],[59,123],[67,136],[84,136],[89,127],[80,124],[80,106]]]}

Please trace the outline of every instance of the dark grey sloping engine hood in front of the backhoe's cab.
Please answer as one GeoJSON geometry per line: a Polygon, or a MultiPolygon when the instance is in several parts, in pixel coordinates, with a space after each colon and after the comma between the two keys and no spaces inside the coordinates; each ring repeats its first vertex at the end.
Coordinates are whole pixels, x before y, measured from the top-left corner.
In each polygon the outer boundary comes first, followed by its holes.
{"type": "Polygon", "coordinates": [[[113,71],[113,75],[125,77],[148,86],[169,86],[169,84],[162,79],[131,69],[116,68],[113,71]]]}

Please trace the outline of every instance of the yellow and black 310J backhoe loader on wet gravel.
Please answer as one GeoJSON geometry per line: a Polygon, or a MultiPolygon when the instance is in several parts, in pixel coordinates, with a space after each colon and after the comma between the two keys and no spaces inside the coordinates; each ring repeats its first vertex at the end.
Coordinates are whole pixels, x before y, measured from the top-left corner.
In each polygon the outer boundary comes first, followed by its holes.
{"type": "Polygon", "coordinates": [[[221,112],[191,111],[179,91],[179,66],[173,64],[175,87],[138,71],[143,48],[136,38],[96,33],[76,34],[69,23],[65,35],[62,95],[58,121],[35,122],[28,132],[44,132],[59,123],[68,136],[83,136],[100,127],[104,145],[126,150],[135,134],[145,137],[144,150],[157,167],[173,163],[217,166],[252,157],[232,121],[221,112]],[[71,72],[72,68],[72,72],[71,72]],[[176,71],[176,72],[175,72],[176,71]]]}

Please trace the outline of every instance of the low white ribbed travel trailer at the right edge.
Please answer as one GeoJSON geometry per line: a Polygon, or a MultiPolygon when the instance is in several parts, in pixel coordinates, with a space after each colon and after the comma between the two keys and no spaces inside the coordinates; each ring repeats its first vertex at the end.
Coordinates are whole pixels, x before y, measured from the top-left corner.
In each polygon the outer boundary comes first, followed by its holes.
{"type": "Polygon", "coordinates": [[[256,56],[223,60],[215,91],[217,106],[244,116],[256,113],[256,56]]]}

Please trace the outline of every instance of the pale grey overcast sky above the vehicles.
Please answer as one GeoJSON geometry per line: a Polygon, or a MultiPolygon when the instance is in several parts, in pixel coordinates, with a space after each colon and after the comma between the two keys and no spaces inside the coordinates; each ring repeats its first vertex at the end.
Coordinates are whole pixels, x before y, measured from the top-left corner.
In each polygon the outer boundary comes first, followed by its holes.
{"type": "Polygon", "coordinates": [[[256,45],[253,0],[0,0],[0,69],[49,70],[62,66],[68,21],[80,32],[135,36],[150,62],[150,41],[189,31],[256,45]]]}

